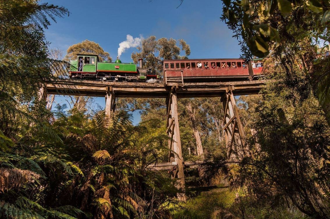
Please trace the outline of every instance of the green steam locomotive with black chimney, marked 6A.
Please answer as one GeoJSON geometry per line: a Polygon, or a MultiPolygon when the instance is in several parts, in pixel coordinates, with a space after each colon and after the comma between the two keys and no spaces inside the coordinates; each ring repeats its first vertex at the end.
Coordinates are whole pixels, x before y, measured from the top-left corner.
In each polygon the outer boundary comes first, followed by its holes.
{"type": "MultiPolygon", "coordinates": [[[[140,66],[142,66],[142,59],[140,66]]],[[[156,82],[159,76],[151,68],[137,67],[134,63],[100,62],[97,55],[77,54],[76,60],[70,60],[70,78],[100,81],[151,81],[156,82]]]]}

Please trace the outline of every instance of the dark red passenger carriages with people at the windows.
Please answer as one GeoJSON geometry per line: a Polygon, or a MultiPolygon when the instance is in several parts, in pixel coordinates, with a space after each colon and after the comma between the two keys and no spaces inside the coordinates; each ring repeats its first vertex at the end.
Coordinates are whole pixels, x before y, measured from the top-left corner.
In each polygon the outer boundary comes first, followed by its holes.
{"type": "Polygon", "coordinates": [[[185,82],[253,79],[262,71],[262,63],[243,59],[184,59],[163,61],[165,80],[185,82]],[[201,66],[201,67],[200,67],[201,66]],[[200,68],[199,68],[200,67],[200,68]]]}

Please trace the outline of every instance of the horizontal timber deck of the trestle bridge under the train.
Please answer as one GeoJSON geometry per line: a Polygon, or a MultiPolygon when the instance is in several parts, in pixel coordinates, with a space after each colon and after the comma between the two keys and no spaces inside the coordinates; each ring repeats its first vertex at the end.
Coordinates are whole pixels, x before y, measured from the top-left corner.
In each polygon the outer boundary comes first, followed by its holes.
{"type": "Polygon", "coordinates": [[[167,97],[171,87],[177,86],[178,97],[216,97],[233,86],[235,95],[257,94],[269,80],[204,82],[204,83],[141,83],[67,80],[47,83],[47,93],[56,95],[105,96],[109,87],[116,97],[167,97]]]}

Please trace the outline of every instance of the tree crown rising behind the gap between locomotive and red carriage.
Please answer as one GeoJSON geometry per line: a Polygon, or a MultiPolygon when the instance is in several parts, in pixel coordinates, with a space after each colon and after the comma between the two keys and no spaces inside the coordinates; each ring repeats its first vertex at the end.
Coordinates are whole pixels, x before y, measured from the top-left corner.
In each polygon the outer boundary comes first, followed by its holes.
{"type": "Polygon", "coordinates": [[[190,47],[184,40],[160,38],[156,40],[155,36],[150,36],[142,41],[142,47],[137,47],[140,52],[133,52],[131,57],[135,63],[143,59],[143,68],[153,68],[158,74],[163,70],[162,60],[166,59],[187,59],[190,55],[190,47]],[[184,55],[180,56],[181,51],[184,55]]]}

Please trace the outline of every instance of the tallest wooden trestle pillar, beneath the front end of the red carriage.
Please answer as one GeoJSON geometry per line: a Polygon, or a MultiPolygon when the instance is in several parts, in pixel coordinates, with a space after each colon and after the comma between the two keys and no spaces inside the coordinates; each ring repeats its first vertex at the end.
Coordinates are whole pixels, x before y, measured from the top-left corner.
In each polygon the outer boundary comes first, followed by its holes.
{"type": "MultiPolygon", "coordinates": [[[[177,166],[173,168],[172,177],[178,178],[180,188],[184,189],[184,174],[183,174],[183,158],[181,150],[181,139],[178,119],[178,104],[176,87],[173,86],[167,102],[167,134],[170,137],[168,140],[169,159],[168,162],[176,162],[177,166]],[[173,153],[173,151],[175,153],[173,153]]],[[[178,194],[181,201],[186,201],[185,194],[178,194]]]]}

